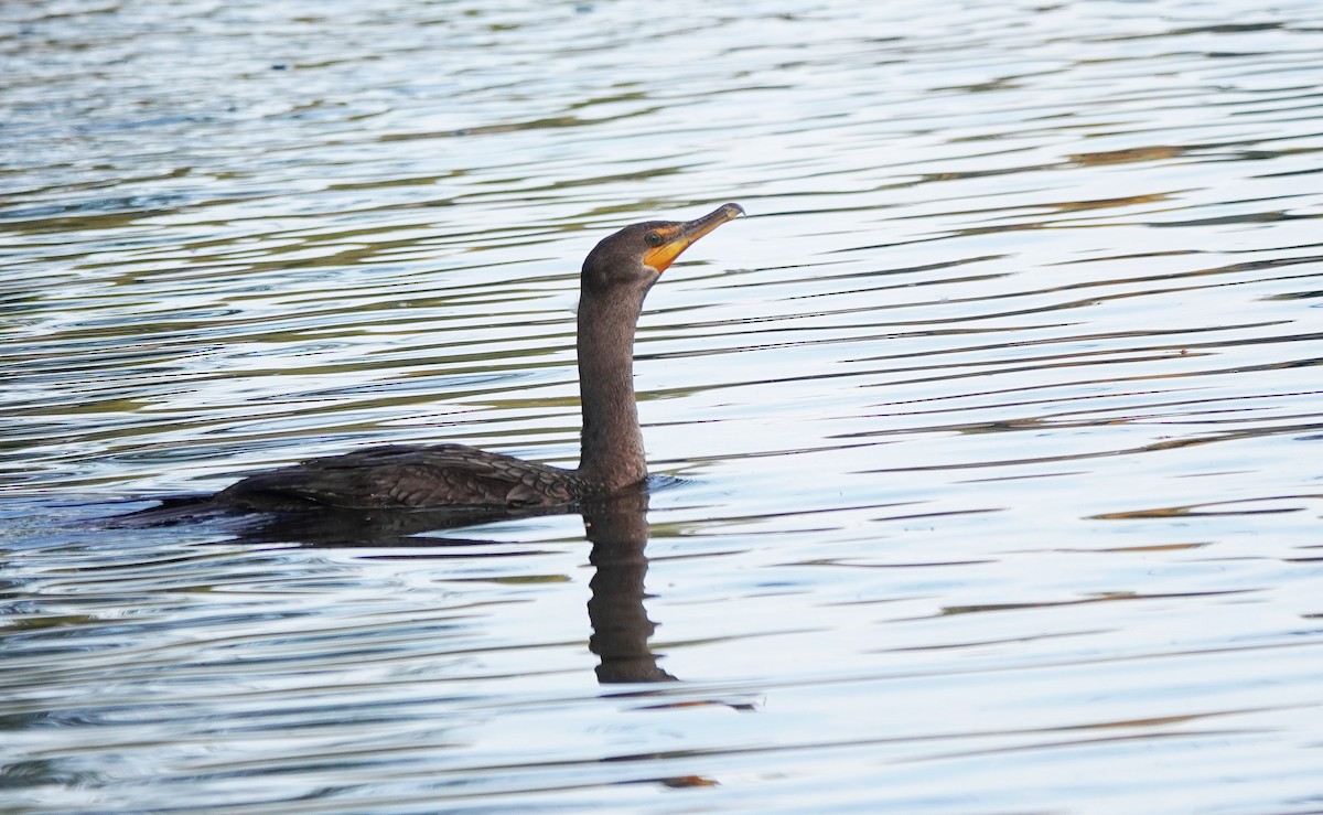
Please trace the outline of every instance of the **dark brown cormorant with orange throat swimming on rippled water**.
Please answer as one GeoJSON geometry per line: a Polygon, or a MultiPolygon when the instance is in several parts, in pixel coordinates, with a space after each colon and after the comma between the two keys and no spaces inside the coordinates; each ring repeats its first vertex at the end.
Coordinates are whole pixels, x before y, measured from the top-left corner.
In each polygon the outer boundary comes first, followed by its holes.
{"type": "Polygon", "coordinates": [[[426,509],[451,513],[451,523],[438,525],[455,525],[538,513],[640,484],[647,460],[634,402],[634,331],[643,298],[691,243],[741,214],[738,205],[725,204],[693,221],[626,226],[583,261],[578,308],[583,433],[576,470],[463,445],[390,445],[251,475],[210,497],[167,499],[126,517],[155,524],[228,513],[426,509]]]}

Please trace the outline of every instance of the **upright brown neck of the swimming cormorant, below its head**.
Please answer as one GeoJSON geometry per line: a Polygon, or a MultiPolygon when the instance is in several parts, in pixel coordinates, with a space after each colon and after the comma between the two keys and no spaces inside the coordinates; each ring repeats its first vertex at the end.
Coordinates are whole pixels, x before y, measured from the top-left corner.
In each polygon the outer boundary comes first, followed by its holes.
{"type": "Polygon", "coordinates": [[[642,295],[594,294],[578,310],[579,400],[583,405],[578,476],[609,492],[647,478],[639,410],[634,404],[634,327],[642,295]]]}

